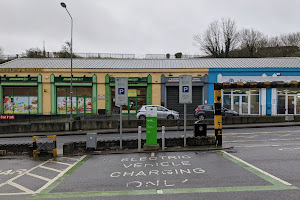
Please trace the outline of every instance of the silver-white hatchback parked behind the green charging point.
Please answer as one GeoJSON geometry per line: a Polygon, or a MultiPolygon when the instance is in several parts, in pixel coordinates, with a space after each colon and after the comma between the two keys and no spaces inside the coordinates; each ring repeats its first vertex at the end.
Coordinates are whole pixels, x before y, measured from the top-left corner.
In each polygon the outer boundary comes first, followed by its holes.
{"type": "Polygon", "coordinates": [[[146,107],[157,107],[157,119],[179,119],[179,112],[159,105],[145,105],[137,111],[137,119],[146,119],[146,107]]]}

